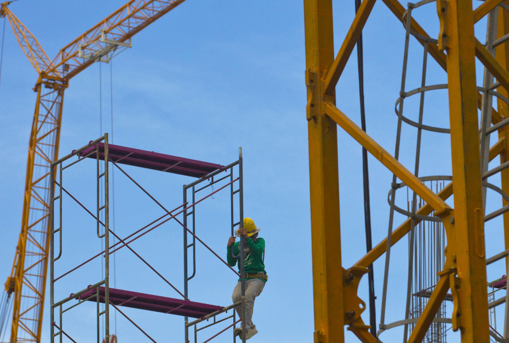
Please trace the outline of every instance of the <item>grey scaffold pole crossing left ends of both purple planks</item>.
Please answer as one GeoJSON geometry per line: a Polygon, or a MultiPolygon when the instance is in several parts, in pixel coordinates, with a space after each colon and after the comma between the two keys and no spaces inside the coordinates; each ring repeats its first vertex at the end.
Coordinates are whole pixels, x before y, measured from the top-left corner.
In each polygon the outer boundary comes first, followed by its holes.
{"type": "Polygon", "coordinates": [[[104,246],[105,246],[105,283],[104,283],[104,305],[106,316],[106,338],[105,343],[109,343],[109,175],[108,175],[108,134],[104,134],[104,246]]]}

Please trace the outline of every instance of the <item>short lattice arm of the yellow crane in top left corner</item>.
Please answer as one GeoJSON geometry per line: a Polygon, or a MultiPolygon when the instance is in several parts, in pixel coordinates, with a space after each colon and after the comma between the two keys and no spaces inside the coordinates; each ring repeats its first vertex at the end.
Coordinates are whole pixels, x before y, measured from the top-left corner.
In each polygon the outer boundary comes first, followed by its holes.
{"type": "Polygon", "coordinates": [[[35,36],[23,25],[23,23],[11,12],[7,7],[9,2],[3,3],[0,7],[0,17],[7,17],[11,24],[12,31],[16,35],[19,46],[23,49],[26,57],[29,58],[30,63],[34,66],[38,73],[41,71],[53,69],[53,65],[44,52],[41,44],[37,41],[35,36]]]}

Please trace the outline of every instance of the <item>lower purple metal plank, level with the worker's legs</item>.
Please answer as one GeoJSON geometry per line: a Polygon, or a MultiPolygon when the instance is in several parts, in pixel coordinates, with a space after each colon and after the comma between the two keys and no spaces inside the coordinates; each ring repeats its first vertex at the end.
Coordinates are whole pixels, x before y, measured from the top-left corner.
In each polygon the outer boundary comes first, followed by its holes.
{"type": "MultiPolygon", "coordinates": [[[[90,287],[90,286],[89,286],[90,287]]],[[[80,300],[96,301],[96,288],[79,296],[80,300]]],[[[104,303],[104,287],[99,287],[99,302],[104,303]]],[[[109,288],[109,302],[116,306],[138,308],[142,310],[171,313],[202,318],[204,315],[223,309],[222,306],[197,303],[189,300],[181,300],[160,297],[151,294],[124,291],[123,289],[109,288]]]]}

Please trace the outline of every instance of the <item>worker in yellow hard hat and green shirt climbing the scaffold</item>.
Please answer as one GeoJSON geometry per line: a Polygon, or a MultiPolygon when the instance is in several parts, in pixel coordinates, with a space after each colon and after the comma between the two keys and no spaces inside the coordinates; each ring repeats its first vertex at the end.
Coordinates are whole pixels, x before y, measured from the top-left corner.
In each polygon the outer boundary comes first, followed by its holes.
{"type": "MultiPolygon", "coordinates": [[[[260,228],[256,227],[254,221],[251,218],[244,218],[244,227],[235,230],[235,235],[244,237],[244,273],[245,273],[245,327],[246,327],[246,339],[251,338],[258,333],[256,326],[252,323],[254,299],[258,297],[267,282],[267,273],[265,272],[264,265],[264,252],[265,252],[265,240],[258,237],[260,228]]],[[[240,272],[240,258],[234,258],[233,255],[240,255],[239,243],[235,242],[235,236],[231,236],[228,240],[227,247],[227,259],[228,264],[232,267],[235,266],[238,260],[238,267],[240,272]],[[232,255],[233,247],[233,255],[232,255]]],[[[241,300],[241,281],[235,286],[232,294],[232,300],[234,303],[241,300]]],[[[235,308],[239,317],[242,317],[241,307],[235,308]]],[[[234,331],[235,335],[242,337],[242,328],[236,328],[234,331]]]]}

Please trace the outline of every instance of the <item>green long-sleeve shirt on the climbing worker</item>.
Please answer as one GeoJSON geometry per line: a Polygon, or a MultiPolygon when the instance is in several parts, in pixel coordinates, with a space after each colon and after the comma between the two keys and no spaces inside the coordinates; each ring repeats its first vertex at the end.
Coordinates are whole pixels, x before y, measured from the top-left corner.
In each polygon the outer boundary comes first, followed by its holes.
{"type": "MultiPolygon", "coordinates": [[[[267,274],[267,272],[265,271],[265,265],[263,263],[263,252],[265,251],[265,240],[263,238],[258,238],[255,243],[250,237],[248,237],[246,242],[247,242],[247,247],[249,248],[250,252],[246,253],[244,256],[244,272],[249,273],[249,274],[256,274],[259,272],[264,272],[265,274],[267,274]]],[[[240,242],[235,242],[233,244],[234,255],[239,255],[239,253],[240,253],[239,243],[240,242]]],[[[227,246],[226,251],[227,251],[228,264],[232,267],[234,267],[237,264],[238,268],[239,268],[239,272],[240,272],[240,258],[234,258],[232,256],[232,247],[227,246]]],[[[249,280],[249,279],[257,279],[257,278],[248,278],[246,280],[249,280]]],[[[259,279],[262,280],[263,282],[266,282],[265,279],[261,279],[261,278],[259,278],[259,279]]]]}

